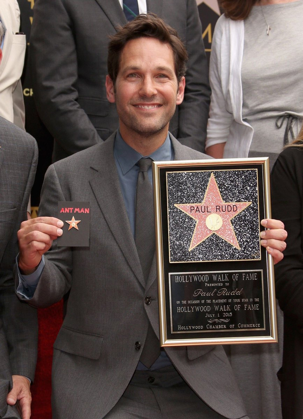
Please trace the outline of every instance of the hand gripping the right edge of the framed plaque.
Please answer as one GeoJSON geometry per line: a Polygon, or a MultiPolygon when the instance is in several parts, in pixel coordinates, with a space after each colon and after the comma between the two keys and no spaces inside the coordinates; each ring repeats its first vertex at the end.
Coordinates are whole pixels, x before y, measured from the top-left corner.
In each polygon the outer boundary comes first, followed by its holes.
{"type": "Polygon", "coordinates": [[[283,251],[286,248],[285,239],[287,231],[284,230],[282,221],[274,219],[264,219],[261,221],[263,227],[267,228],[261,231],[261,245],[266,247],[267,252],[273,257],[274,264],[283,259],[283,251]]]}

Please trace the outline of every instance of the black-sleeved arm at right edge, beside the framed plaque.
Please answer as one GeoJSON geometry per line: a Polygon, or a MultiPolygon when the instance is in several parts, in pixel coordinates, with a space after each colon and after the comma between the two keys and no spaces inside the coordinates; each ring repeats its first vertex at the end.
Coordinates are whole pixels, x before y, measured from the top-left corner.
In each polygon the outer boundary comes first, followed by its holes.
{"type": "Polygon", "coordinates": [[[272,213],[288,231],[284,259],[275,267],[276,296],[284,313],[303,330],[303,149],[288,148],[271,176],[272,213]]]}

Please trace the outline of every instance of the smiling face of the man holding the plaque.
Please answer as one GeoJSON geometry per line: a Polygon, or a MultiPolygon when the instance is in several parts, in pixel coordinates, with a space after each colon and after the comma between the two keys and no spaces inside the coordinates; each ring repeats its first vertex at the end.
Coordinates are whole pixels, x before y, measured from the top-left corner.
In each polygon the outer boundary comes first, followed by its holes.
{"type": "Polygon", "coordinates": [[[167,132],[176,105],[183,100],[185,79],[174,70],[171,47],[154,38],[129,41],[121,54],[116,84],[106,78],[107,98],[116,102],[124,140],[134,133],[149,137],[167,132]]]}

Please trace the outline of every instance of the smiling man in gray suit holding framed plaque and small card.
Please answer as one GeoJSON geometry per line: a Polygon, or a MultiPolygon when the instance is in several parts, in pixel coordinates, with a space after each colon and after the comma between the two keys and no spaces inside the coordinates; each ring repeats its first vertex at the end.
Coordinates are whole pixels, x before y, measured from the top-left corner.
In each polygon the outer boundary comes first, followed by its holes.
{"type": "MultiPolygon", "coordinates": [[[[109,45],[106,77],[119,131],[51,166],[42,216],[21,224],[20,298],[44,307],[71,290],[54,345],[54,419],[246,418],[221,346],[160,352],[155,259],[147,271],[141,259],[153,234],[148,217],[138,229],[142,213],[135,217],[136,179],[137,202],[151,185],[145,176],[142,189],[137,162],[142,165],[142,156],[207,158],[168,133],[184,95],[185,60],[176,32],[154,15],[138,16],[120,29],[109,45]],[[58,201],[89,202],[89,247],[52,243],[62,235],[63,222],[54,217],[58,201]],[[142,232],[147,243],[141,248],[137,236],[142,232]]],[[[152,199],[144,209],[150,205],[152,199]]],[[[279,260],[283,224],[267,220],[267,226],[278,227],[267,230],[264,239],[279,260]]]]}

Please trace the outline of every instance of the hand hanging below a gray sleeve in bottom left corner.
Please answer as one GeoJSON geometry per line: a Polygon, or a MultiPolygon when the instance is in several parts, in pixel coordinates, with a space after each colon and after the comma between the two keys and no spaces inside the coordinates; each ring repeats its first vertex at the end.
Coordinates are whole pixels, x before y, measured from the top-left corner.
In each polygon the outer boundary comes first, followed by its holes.
{"type": "Polygon", "coordinates": [[[21,414],[22,419],[30,418],[30,404],[32,397],[30,394],[30,382],[22,375],[12,376],[12,389],[8,393],[6,402],[13,406],[17,403],[17,408],[21,414]]]}

